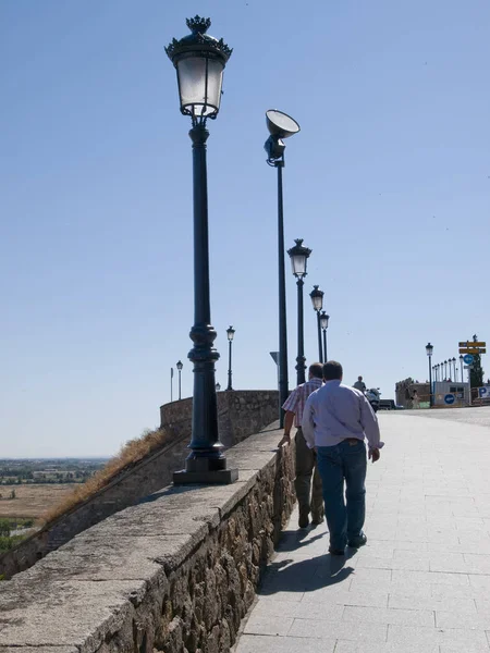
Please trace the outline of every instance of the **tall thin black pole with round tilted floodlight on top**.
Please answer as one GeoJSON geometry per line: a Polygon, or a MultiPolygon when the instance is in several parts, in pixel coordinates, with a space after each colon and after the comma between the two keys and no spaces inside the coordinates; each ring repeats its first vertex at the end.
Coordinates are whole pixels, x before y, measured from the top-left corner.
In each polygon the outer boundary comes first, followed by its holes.
{"type": "Polygon", "coordinates": [[[284,214],[282,197],[282,169],[284,168],[285,145],[283,138],[289,138],[299,132],[299,125],[286,113],[270,109],[266,111],[267,128],[270,136],[264,146],[267,151],[267,162],[278,169],[278,268],[279,268],[279,422],[284,426],[282,405],[287,398],[287,326],[285,304],[285,270],[284,270],[284,214]]]}

